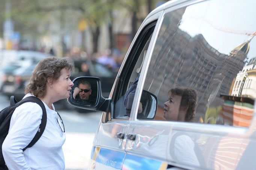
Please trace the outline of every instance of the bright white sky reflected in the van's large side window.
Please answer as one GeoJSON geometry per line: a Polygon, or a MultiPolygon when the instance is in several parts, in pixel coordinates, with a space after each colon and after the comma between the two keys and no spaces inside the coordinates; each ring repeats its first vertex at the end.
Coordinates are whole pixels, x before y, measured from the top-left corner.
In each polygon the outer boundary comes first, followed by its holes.
{"type": "MultiPolygon", "coordinates": [[[[232,49],[252,36],[247,35],[248,33],[256,31],[254,10],[254,0],[206,1],[187,7],[179,28],[191,37],[202,34],[213,48],[223,54],[229,54],[232,49]]],[[[256,37],[250,42],[247,55],[249,59],[256,56],[256,48],[253,48],[255,45],[256,37]]]]}

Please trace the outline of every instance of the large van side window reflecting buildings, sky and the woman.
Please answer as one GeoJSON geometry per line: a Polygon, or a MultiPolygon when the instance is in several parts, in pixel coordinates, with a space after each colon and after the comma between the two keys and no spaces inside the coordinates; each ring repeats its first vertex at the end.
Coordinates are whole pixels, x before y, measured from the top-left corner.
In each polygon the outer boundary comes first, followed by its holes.
{"type": "MultiPolygon", "coordinates": [[[[256,98],[256,24],[253,16],[233,18],[235,4],[208,9],[209,3],[165,13],[143,90],[157,97],[154,120],[248,127],[256,98]]],[[[148,115],[137,118],[151,120],[148,115]]]]}

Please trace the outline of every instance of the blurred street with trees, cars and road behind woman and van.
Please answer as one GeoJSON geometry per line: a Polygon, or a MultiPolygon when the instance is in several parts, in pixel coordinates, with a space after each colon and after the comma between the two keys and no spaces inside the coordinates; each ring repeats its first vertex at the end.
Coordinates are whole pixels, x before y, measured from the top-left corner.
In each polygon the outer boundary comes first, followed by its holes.
{"type": "MultiPolygon", "coordinates": [[[[50,56],[72,60],[71,80],[100,78],[107,98],[139,26],[166,1],[0,0],[0,109],[9,106],[11,95],[23,98],[36,64],[50,56]]],[[[85,170],[101,112],[83,113],[65,100],[58,105],[66,170],[85,170]]]]}

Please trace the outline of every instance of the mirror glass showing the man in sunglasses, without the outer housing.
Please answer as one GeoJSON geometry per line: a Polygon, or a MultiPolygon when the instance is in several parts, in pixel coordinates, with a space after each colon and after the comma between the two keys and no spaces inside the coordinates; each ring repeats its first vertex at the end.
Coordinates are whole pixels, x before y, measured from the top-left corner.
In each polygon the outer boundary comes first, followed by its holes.
{"type": "Polygon", "coordinates": [[[78,78],[73,83],[71,103],[78,106],[95,106],[98,97],[98,81],[91,78],[78,78]]]}

